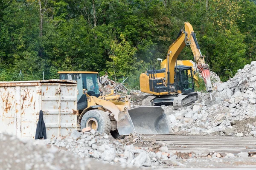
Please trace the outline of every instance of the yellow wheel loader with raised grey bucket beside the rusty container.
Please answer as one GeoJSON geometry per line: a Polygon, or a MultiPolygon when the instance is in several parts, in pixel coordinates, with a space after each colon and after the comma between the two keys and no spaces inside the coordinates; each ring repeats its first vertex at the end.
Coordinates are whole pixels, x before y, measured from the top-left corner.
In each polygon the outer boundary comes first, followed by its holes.
{"type": "Polygon", "coordinates": [[[98,86],[99,73],[92,71],[59,71],[60,79],[77,81],[78,129],[90,127],[114,138],[130,133],[168,134],[169,123],[161,107],[131,108],[131,96],[120,96],[116,90],[103,95],[98,86]]]}

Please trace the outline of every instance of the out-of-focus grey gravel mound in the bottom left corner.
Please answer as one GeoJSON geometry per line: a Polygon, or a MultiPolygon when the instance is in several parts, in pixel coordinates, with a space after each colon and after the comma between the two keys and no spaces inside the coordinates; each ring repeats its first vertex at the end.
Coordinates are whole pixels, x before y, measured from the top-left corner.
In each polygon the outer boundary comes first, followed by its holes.
{"type": "Polygon", "coordinates": [[[52,146],[49,140],[24,140],[0,133],[0,170],[129,170],[128,167],[81,159],[52,146]]]}

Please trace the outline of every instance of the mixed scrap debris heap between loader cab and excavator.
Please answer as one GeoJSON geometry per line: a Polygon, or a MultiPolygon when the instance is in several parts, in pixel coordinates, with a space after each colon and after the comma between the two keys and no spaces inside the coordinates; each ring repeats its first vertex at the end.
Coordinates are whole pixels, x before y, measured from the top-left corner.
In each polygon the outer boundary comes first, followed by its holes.
{"type": "Polygon", "coordinates": [[[115,82],[108,78],[108,73],[101,77],[101,83],[99,82],[99,88],[105,93],[110,94],[111,89],[116,89],[122,93],[127,93],[127,88],[119,82],[115,82]]]}

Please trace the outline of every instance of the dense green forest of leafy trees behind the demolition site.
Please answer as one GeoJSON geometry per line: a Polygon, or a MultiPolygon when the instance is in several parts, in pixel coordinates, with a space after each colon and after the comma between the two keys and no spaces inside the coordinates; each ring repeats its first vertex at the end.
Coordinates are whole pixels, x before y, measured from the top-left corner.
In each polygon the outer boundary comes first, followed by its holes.
{"type": "MultiPolygon", "coordinates": [[[[0,0],[0,81],[107,71],[134,88],[166,58],[184,21],[226,81],[256,60],[255,13],[250,0],[0,0]]],[[[191,49],[178,59],[193,59],[191,49]]]]}

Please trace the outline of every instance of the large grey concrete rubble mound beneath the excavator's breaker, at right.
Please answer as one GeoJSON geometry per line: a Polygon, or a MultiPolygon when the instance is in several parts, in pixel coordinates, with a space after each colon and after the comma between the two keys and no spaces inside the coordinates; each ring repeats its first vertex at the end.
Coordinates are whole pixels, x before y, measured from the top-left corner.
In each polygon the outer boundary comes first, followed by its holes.
{"type": "Polygon", "coordinates": [[[177,134],[256,136],[256,63],[245,65],[236,75],[219,83],[216,91],[198,93],[194,104],[174,111],[166,110],[170,125],[177,134]]]}

